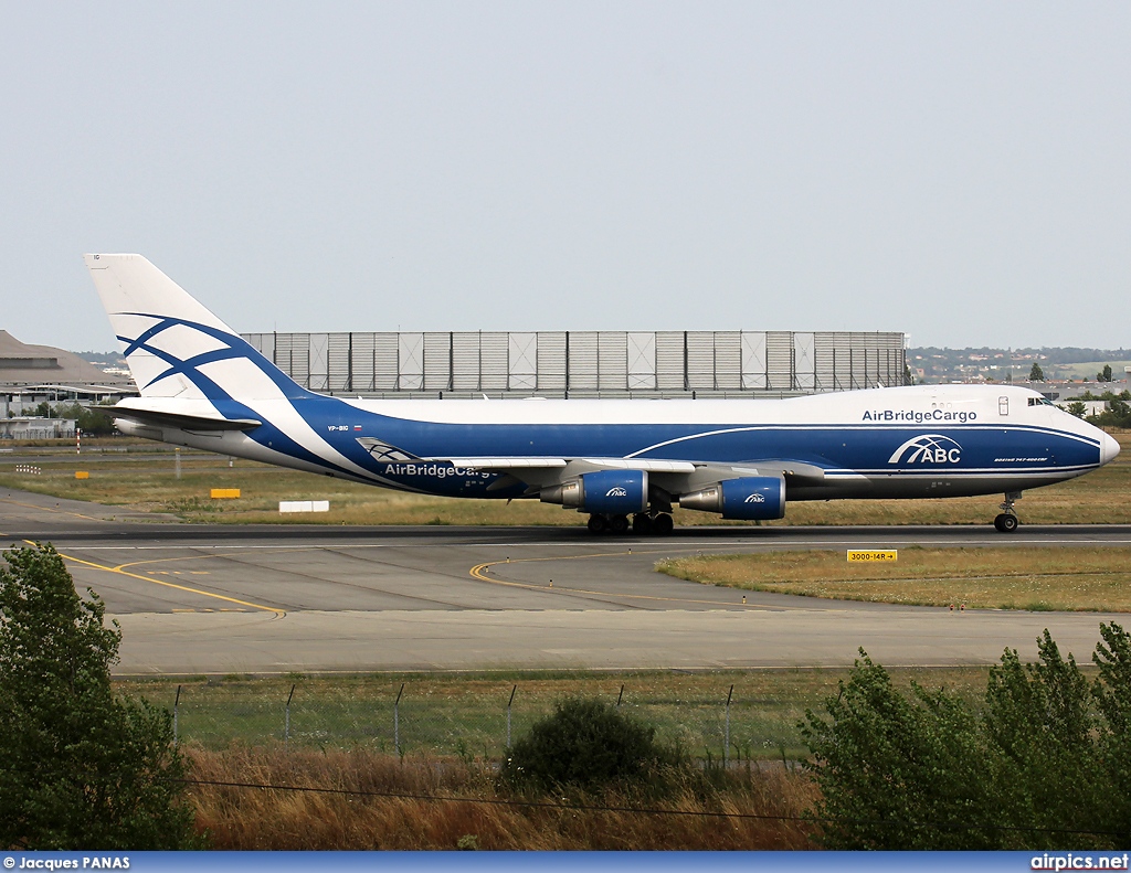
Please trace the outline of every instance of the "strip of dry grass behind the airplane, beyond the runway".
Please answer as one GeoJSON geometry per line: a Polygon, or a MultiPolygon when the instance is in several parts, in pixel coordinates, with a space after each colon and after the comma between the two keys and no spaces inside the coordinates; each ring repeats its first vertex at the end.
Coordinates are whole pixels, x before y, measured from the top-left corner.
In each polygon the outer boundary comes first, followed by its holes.
{"type": "MultiPolygon", "coordinates": [[[[1087,476],[1026,492],[1018,503],[1022,524],[1131,524],[1131,434],[1117,434],[1123,452],[1087,476]]],[[[107,448],[114,448],[107,441],[107,448]]],[[[97,451],[102,447],[95,447],[97,451]]],[[[0,487],[23,489],[76,500],[169,512],[188,521],[287,522],[329,525],[573,525],[585,516],[537,501],[456,500],[404,494],[354,485],[326,476],[268,467],[202,452],[182,452],[182,476],[173,453],[153,443],[103,456],[100,460],[53,458],[41,475],[21,474],[14,456],[0,456],[0,487]],[[76,479],[87,470],[88,479],[76,479]],[[210,500],[214,487],[240,489],[239,500],[210,500]],[[329,500],[322,513],[278,513],[280,500],[329,500]]],[[[88,453],[92,448],[86,448],[88,453]]],[[[1000,495],[951,500],[855,500],[791,503],[777,525],[988,525],[1000,495]]],[[[722,521],[709,512],[676,510],[675,524],[749,525],[722,521]]]]}

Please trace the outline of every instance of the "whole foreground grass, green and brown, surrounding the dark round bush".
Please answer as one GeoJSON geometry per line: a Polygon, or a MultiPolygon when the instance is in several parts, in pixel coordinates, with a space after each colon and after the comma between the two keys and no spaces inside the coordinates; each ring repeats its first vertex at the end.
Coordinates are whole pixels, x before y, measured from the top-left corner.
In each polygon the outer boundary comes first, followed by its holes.
{"type": "MultiPolygon", "coordinates": [[[[890,673],[899,688],[913,680],[927,688],[946,686],[978,706],[987,671],[890,673]]],[[[846,675],[844,669],[786,669],[598,677],[232,676],[213,684],[189,678],[182,681],[180,721],[185,726],[182,744],[191,777],[243,787],[193,785],[188,802],[197,827],[209,831],[217,849],[812,848],[812,826],[798,816],[818,793],[794,763],[808,754],[797,721],[806,708],[820,710],[826,699],[835,697],[837,681],[846,675]],[[403,749],[397,754],[391,747],[390,715],[402,682],[403,749]],[[283,708],[292,685],[297,686],[292,737],[284,745],[283,708]],[[524,798],[510,794],[497,778],[503,753],[499,735],[516,685],[516,738],[535,717],[549,712],[555,699],[577,694],[612,701],[623,686],[622,706],[656,726],[661,740],[706,744],[684,745],[703,761],[697,771],[702,776],[692,776],[663,795],[614,789],[590,796],[539,796],[535,798],[539,805],[524,805],[524,798]],[[735,747],[723,772],[718,743],[731,685],[735,747]],[[210,712],[210,740],[188,727],[192,710],[200,716],[210,712]],[[368,721],[372,732],[364,740],[336,741],[333,728],[321,734],[308,729],[312,714],[325,719],[323,727],[344,717],[352,724],[368,721]],[[432,725],[428,742],[416,727],[423,721],[432,725]],[[710,731],[702,732],[705,725],[710,731]],[[697,729],[700,738],[691,740],[689,733],[697,729]],[[473,735],[480,738],[469,738],[473,735]],[[705,752],[710,753],[709,761],[705,752]],[[787,762],[780,761],[783,755],[787,762]]],[[[171,706],[176,680],[115,685],[171,706]]]]}

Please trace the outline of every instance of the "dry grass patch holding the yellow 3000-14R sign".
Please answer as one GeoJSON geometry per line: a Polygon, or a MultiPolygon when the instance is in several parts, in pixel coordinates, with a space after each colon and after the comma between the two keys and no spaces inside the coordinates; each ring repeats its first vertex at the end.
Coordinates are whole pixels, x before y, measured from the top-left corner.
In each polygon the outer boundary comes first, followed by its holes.
{"type": "Polygon", "coordinates": [[[1131,548],[899,550],[896,563],[844,552],[762,552],[662,561],[681,579],[844,600],[970,608],[1131,612],[1131,548]]]}

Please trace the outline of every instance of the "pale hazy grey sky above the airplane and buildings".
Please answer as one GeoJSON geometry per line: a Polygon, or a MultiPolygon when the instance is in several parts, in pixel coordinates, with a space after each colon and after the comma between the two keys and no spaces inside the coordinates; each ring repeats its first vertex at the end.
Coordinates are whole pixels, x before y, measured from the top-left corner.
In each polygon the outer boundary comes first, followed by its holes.
{"type": "Polygon", "coordinates": [[[0,328],[1131,345],[1131,3],[6,2],[0,328]]]}

